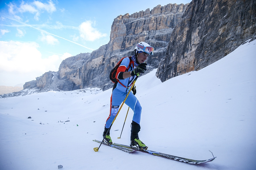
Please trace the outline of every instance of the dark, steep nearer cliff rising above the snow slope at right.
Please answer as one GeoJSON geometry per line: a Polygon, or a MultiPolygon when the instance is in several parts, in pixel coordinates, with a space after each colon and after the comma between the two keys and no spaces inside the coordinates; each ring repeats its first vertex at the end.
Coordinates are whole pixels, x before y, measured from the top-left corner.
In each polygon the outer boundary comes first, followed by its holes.
{"type": "Polygon", "coordinates": [[[193,0],[172,32],[157,77],[162,82],[223,58],[256,31],[256,1],[193,0]]]}

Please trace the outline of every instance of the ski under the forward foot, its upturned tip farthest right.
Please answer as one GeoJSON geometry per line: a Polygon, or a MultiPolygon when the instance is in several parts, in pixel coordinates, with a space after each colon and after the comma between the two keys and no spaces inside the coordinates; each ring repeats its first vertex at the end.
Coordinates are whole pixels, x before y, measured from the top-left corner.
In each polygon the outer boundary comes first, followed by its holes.
{"type": "MultiPolygon", "coordinates": [[[[121,146],[121,147],[124,147],[124,148],[127,148],[127,149],[138,149],[138,148],[136,148],[134,146],[131,147],[131,146],[122,145],[122,144],[118,144],[118,143],[113,143],[113,145],[121,146]]],[[[182,158],[182,157],[179,157],[179,156],[173,156],[173,155],[169,155],[169,154],[155,152],[155,151],[152,151],[152,150],[141,150],[141,149],[139,149],[139,151],[145,152],[145,153],[148,153],[148,154],[152,154],[152,155],[156,155],[156,156],[160,156],[160,157],[164,157],[164,158],[168,158],[168,159],[172,159],[172,160],[176,160],[176,161],[180,161],[180,162],[191,163],[191,164],[207,163],[207,162],[213,161],[216,158],[212,154],[213,158],[208,159],[208,160],[192,160],[192,159],[182,158]]]]}

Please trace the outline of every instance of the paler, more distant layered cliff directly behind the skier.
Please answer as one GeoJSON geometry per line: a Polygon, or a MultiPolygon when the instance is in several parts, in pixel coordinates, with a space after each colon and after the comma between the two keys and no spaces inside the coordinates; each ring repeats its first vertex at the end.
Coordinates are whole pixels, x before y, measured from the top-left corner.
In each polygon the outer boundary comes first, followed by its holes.
{"type": "MultiPolygon", "coordinates": [[[[188,4],[158,5],[151,11],[136,12],[117,16],[114,19],[110,41],[92,53],[78,54],[65,59],[59,70],[40,76],[37,80],[26,82],[24,89],[77,90],[98,87],[103,90],[113,87],[109,79],[111,69],[124,56],[134,54],[137,43],[144,41],[155,48],[154,56],[148,57],[147,72],[158,67],[166,55],[170,35],[185,12],[188,4]],[[48,77],[48,79],[46,78],[48,77]]],[[[37,90],[38,91],[38,90],[37,90]]]]}

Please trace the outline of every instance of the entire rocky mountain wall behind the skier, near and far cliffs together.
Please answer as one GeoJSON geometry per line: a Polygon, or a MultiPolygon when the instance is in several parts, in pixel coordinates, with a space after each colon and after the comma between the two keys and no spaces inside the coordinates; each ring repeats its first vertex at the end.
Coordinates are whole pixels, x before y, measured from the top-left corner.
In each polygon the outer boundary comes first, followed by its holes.
{"type": "Polygon", "coordinates": [[[63,60],[57,72],[49,71],[26,82],[24,91],[109,89],[113,86],[109,71],[121,57],[133,55],[140,41],[155,48],[154,56],[147,60],[147,73],[158,68],[156,76],[163,82],[210,65],[246,40],[255,39],[255,32],[254,0],[192,0],[185,5],[158,5],[152,10],[118,16],[108,44],[63,60]]]}

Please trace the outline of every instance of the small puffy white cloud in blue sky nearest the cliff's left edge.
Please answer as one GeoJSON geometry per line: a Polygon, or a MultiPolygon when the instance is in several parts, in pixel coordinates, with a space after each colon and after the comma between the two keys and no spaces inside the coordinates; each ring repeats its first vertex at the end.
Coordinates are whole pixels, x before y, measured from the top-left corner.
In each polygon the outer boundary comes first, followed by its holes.
{"type": "Polygon", "coordinates": [[[79,25],[80,37],[86,41],[94,41],[101,37],[106,37],[107,34],[100,33],[92,27],[92,21],[83,22],[79,25]]]}

